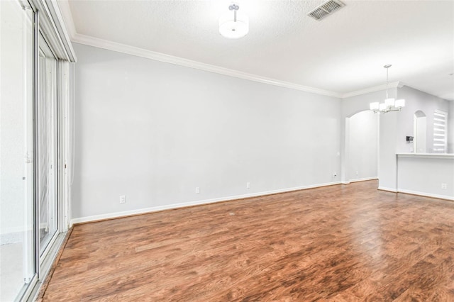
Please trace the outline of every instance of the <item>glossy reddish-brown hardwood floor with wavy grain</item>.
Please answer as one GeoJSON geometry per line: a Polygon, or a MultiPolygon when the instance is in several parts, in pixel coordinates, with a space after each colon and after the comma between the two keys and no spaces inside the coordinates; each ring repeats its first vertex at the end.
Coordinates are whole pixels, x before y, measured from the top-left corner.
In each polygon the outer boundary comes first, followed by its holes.
{"type": "Polygon", "coordinates": [[[454,203],[376,188],[75,225],[43,301],[454,301],[454,203]]]}

